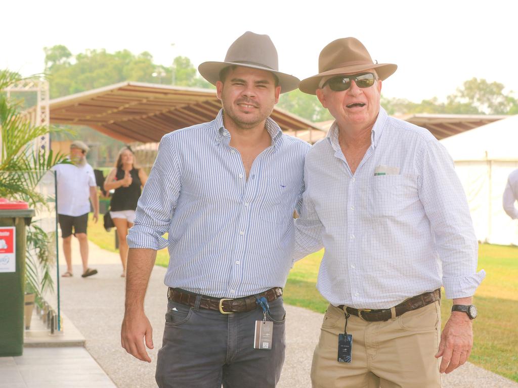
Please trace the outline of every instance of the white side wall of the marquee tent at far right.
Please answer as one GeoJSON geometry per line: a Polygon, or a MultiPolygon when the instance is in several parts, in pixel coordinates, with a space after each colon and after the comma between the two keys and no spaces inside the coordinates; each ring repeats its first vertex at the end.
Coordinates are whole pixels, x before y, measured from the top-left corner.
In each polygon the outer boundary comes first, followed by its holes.
{"type": "Polygon", "coordinates": [[[473,219],[477,239],[501,245],[518,245],[518,222],[503,211],[502,193],[518,160],[455,161],[473,219]]]}

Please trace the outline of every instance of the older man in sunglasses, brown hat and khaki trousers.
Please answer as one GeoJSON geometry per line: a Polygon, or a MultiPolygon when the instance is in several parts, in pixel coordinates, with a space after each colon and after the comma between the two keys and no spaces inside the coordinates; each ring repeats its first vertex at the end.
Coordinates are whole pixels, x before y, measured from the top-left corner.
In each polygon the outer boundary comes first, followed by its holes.
{"type": "Polygon", "coordinates": [[[426,129],[387,116],[382,81],[355,38],[320,53],[300,83],[335,117],[306,157],[296,257],[325,247],[318,288],[329,301],[314,387],[438,387],[468,359],[477,239],[453,162],[426,129]],[[440,287],[453,312],[440,335],[440,287]],[[440,361],[440,357],[442,360],[440,361]]]}

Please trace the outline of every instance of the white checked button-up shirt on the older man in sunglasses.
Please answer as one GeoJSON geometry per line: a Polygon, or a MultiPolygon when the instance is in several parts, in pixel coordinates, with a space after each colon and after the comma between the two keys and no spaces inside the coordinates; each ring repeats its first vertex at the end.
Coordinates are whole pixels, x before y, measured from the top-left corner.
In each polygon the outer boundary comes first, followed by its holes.
{"type": "Polygon", "coordinates": [[[390,308],[441,285],[465,297],[484,278],[453,161],[426,129],[381,108],[352,174],[335,123],[306,156],[305,183],[294,259],[325,247],[317,287],[333,305],[390,308]]]}

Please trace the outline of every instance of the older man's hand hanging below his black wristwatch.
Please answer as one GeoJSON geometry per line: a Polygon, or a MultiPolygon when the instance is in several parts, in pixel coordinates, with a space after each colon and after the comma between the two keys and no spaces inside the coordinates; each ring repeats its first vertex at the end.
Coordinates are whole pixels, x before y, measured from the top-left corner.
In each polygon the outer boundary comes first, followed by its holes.
{"type": "Polygon", "coordinates": [[[439,351],[435,355],[442,356],[439,371],[450,373],[461,366],[469,358],[473,346],[473,329],[471,319],[465,312],[453,311],[441,333],[439,351]]]}

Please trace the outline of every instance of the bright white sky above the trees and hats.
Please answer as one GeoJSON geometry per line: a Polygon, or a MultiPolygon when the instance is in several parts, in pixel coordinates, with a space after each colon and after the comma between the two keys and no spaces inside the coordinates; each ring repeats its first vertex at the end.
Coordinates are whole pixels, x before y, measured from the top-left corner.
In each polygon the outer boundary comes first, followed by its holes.
{"type": "Polygon", "coordinates": [[[498,81],[518,95],[514,0],[21,0],[3,2],[0,12],[0,68],[24,76],[43,70],[42,49],[55,44],[73,54],[149,51],[166,66],[183,55],[197,67],[223,61],[248,30],[268,34],[279,70],[300,79],[318,72],[327,43],[354,36],[373,59],[398,65],[383,83],[386,97],[444,100],[472,77],[498,81]]]}

